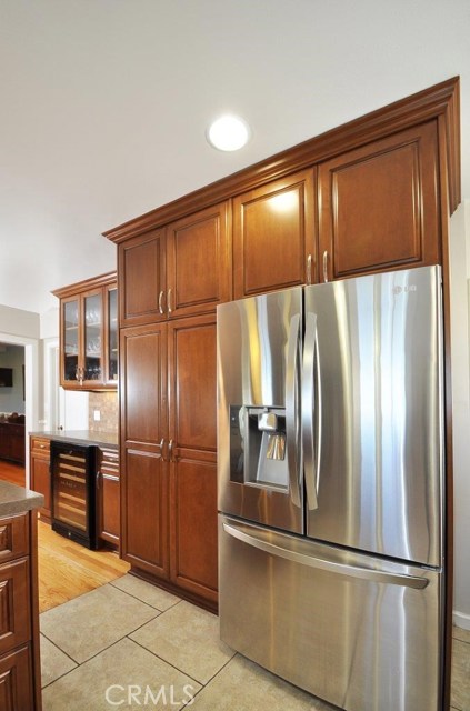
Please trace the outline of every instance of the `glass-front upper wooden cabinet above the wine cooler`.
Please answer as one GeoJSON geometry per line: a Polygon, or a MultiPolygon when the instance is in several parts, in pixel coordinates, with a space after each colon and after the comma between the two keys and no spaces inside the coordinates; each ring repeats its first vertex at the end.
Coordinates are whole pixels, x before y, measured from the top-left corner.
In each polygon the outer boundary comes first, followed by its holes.
{"type": "Polygon", "coordinates": [[[68,390],[118,387],[116,272],[52,292],[60,299],[60,384],[68,390]]]}

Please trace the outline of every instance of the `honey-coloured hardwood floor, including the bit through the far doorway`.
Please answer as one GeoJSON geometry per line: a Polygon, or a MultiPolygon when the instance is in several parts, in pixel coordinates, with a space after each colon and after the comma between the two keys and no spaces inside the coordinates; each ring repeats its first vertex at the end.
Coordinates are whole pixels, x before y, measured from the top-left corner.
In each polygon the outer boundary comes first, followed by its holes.
{"type": "MultiPolygon", "coordinates": [[[[0,460],[0,479],[24,487],[26,472],[20,464],[0,460]]],[[[129,570],[118,553],[90,551],[38,522],[39,612],[90,592],[129,570]]]]}

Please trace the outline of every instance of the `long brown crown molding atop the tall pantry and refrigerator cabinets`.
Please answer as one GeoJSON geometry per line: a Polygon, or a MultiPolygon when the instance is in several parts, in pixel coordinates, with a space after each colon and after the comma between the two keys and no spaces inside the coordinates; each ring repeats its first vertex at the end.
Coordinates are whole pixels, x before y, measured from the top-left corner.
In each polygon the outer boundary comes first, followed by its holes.
{"type": "Polygon", "coordinates": [[[130,237],[163,227],[172,220],[333,158],[343,151],[438,117],[444,119],[449,207],[453,212],[461,199],[459,82],[460,78],[453,77],[367,113],[108,230],[103,236],[118,244],[130,237]]]}

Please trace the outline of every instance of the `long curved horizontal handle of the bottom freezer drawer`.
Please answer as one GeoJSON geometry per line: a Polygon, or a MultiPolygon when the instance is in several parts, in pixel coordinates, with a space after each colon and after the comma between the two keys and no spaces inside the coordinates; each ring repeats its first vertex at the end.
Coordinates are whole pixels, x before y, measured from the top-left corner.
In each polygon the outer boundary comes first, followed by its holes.
{"type": "Polygon", "coordinates": [[[329,573],[337,573],[339,575],[346,575],[348,578],[359,578],[361,580],[368,580],[376,583],[386,583],[389,585],[401,585],[403,588],[412,588],[414,590],[423,590],[429,580],[427,578],[420,578],[419,575],[407,575],[406,573],[388,572],[384,570],[376,570],[373,568],[363,568],[361,565],[351,565],[348,563],[338,563],[323,558],[314,558],[313,555],[306,555],[299,551],[289,550],[271,543],[261,538],[257,538],[252,533],[247,533],[242,525],[238,525],[234,521],[230,523],[223,522],[223,530],[229,535],[258,548],[266,553],[276,555],[278,558],[284,558],[293,563],[301,565],[308,565],[309,568],[317,568],[329,573]]]}

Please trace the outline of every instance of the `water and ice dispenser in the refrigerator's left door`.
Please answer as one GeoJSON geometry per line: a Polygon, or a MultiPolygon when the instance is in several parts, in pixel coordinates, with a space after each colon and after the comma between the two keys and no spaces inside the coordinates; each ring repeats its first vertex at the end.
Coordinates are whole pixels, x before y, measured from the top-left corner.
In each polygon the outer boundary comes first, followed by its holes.
{"type": "Polygon", "coordinates": [[[230,407],[230,479],[288,490],[283,408],[230,407]]]}

